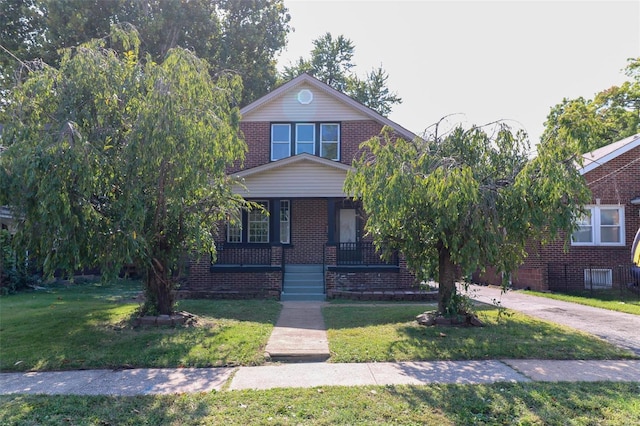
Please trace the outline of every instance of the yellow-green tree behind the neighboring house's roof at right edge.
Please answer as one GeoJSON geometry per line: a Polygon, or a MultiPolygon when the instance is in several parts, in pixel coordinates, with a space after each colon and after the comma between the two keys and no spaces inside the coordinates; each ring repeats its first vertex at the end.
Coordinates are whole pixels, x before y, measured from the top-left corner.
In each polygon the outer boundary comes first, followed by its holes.
{"type": "Polygon", "coordinates": [[[629,80],[598,92],[593,99],[563,99],[545,122],[542,140],[570,140],[581,153],[640,132],[640,58],[630,59],[629,80]]]}

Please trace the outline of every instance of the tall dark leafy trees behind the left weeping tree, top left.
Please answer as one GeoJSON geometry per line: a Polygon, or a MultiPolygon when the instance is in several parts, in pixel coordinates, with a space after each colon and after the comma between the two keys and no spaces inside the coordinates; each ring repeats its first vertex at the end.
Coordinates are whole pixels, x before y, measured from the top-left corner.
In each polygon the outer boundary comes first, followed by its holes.
{"type": "Polygon", "coordinates": [[[16,58],[56,66],[59,49],[105,37],[112,24],[126,22],[156,61],[183,47],[206,59],[213,73],[240,74],[244,104],[273,88],[274,58],[290,31],[282,0],[3,0],[0,12],[7,22],[0,45],[15,56],[0,52],[5,81],[20,66],[16,58]]]}

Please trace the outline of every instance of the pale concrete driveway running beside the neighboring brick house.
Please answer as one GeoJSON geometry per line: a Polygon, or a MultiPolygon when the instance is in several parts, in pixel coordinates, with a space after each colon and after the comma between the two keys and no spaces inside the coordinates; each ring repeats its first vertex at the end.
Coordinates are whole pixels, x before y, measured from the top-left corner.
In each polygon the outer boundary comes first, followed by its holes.
{"type": "Polygon", "coordinates": [[[497,300],[505,308],[594,334],[640,355],[640,315],[531,296],[518,290],[503,294],[498,287],[472,285],[469,291],[469,296],[480,302],[493,304],[497,300]]]}

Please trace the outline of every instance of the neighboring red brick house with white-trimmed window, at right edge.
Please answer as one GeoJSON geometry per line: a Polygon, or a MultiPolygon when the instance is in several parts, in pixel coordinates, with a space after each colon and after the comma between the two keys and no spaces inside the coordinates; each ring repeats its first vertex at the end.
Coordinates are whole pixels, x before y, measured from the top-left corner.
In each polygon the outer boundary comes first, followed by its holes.
{"type": "MultiPolygon", "coordinates": [[[[513,287],[558,291],[638,285],[631,250],[640,235],[640,134],[583,159],[580,174],[593,194],[585,206],[588,214],[568,250],[564,241],[530,243],[527,259],[510,277],[513,287]]],[[[500,282],[491,271],[476,278],[500,282]]]]}

